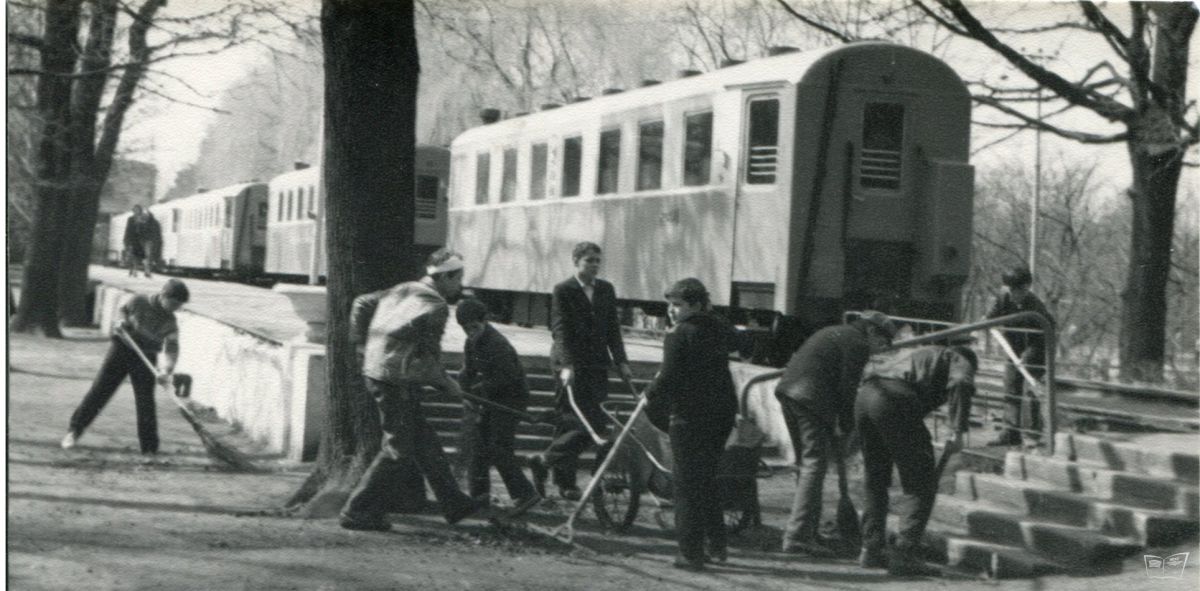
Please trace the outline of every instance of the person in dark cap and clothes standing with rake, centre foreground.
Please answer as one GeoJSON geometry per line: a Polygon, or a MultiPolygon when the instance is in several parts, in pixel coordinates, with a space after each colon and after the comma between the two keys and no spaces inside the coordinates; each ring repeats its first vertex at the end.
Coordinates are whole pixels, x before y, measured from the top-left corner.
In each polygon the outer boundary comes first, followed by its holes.
{"type": "Polygon", "coordinates": [[[738,412],[730,374],[733,329],[710,311],[708,289],[698,279],[676,282],[664,297],[673,327],[662,341],[662,366],[646,398],[670,417],[679,541],[674,566],[698,571],[706,560],[726,560],[716,466],[738,412]]]}

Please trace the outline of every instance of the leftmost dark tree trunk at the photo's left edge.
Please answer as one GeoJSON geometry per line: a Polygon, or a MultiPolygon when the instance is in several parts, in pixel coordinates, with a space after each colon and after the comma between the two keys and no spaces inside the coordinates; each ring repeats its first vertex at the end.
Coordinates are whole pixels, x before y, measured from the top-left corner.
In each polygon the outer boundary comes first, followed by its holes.
{"type": "Polygon", "coordinates": [[[67,133],[71,124],[71,77],[74,71],[82,0],[50,0],[46,6],[42,35],[42,74],[37,79],[37,112],[42,135],[37,148],[37,203],[20,292],[20,306],[12,321],[17,332],[59,330],[59,255],[64,238],[62,217],[70,199],[67,133]]]}

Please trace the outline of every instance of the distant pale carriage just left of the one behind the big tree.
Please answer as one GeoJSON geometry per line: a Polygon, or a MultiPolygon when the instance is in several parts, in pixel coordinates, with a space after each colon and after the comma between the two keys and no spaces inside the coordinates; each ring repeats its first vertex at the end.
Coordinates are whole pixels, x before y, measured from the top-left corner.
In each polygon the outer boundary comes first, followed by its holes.
{"type": "Polygon", "coordinates": [[[170,269],[253,276],[266,257],[266,185],[244,183],[158,203],[161,258],[170,269]]]}

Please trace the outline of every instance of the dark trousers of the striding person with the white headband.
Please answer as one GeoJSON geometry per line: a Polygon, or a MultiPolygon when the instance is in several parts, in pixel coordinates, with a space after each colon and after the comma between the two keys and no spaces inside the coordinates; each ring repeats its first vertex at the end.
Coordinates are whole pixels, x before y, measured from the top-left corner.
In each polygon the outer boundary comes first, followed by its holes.
{"type": "Polygon", "coordinates": [[[359,480],[346,503],[346,512],[382,517],[395,506],[390,497],[400,494],[395,483],[408,477],[424,476],[433,489],[443,515],[454,515],[470,505],[470,499],[458,488],[450,472],[442,442],[425,420],[421,411],[420,387],[394,386],[365,378],[367,393],[379,406],[383,426],[383,448],[359,480]],[[409,472],[415,462],[418,473],[409,472]]]}

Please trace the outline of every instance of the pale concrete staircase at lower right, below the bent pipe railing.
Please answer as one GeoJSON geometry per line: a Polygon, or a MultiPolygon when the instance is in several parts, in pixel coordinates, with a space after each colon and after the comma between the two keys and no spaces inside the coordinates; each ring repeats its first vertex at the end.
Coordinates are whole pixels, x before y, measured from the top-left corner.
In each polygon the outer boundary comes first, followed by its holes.
{"type": "Polygon", "coordinates": [[[1097,574],[1146,548],[1194,542],[1196,437],[1152,437],[1058,434],[1054,456],[1008,452],[1002,474],[959,472],[934,507],[930,557],[994,578],[1097,574]]]}

